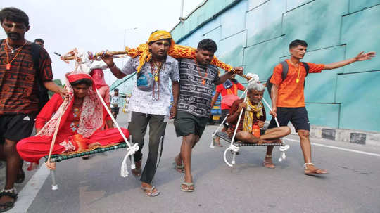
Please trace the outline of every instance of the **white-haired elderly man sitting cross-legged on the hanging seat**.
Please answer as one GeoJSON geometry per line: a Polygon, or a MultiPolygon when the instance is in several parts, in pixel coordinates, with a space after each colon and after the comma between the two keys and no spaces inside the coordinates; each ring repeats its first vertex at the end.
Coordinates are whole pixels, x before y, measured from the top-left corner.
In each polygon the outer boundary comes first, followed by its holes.
{"type": "MultiPolygon", "coordinates": [[[[231,137],[236,129],[236,123],[241,117],[239,127],[236,132],[236,141],[246,143],[277,143],[281,142],[281,137],[291,133],[289,127],[277,127],[273,129],[262,130],[266,119],[265,108],[261,102],[265,87],[259,83],[249,84],[247,87],[247,97],[234,101],[229,110],[227,122],[230,124],[230,129],[227,134],[231,137]]],[[[265,155],[264,167],[274,168],[271,153],[265,155]]]]}

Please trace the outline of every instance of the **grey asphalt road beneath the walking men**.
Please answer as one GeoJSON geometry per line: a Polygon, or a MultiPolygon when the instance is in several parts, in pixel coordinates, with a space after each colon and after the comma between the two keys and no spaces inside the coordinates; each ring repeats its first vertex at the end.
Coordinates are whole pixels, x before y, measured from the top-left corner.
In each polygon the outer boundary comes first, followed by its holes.
{"type": "MultiPolygon", "coordinates": [[[[118,121],[125,127],[124,117],[118,121]]],[[[44,167],[27,172],[10,212],[380,212],[380,147],[313,139],[317,143],[312,146],[313,161],[330,173],[305,176],[298,138],[289,136],[286,160],[277,162],[279,150],[275,148],[275,169],[262,167],[265,148],[260,147],[241,148],[231,168],[222,160],[227,143],[223,148],[209,148],[216,128],[208,126],[194,148],[193,193],[179,190],[183,174],[172,169],[172,162],[181,141],[168,123],[163,157],[153,181],[161,192],[158,197],[148,198],[132,174],[120,176],[122,149],[90,160],[59,162],[58,191],[51,191],[49,171],[44,167]]]]}

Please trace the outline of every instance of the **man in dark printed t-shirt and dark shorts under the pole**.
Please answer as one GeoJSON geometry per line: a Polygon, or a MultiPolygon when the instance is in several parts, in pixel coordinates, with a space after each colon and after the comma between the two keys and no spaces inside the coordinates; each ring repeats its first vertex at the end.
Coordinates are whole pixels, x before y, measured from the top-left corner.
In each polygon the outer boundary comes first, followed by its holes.
{"type": "Polygon", "coordinates": [[[179,60],[180,89],[174,124],[177,136],[182,136],[182,146],[180,153],[175,157],[175,169],[185,172],[182,191],[194,191],[191,149],[201,138],[210,117],[213,84],[222,84],[234,73],[243,73],[243,67],[236,67],[219,77],[217,67],[210,65],[216,50],[215,41],[203,39],[198,43],[195,60],[179,60]]]}

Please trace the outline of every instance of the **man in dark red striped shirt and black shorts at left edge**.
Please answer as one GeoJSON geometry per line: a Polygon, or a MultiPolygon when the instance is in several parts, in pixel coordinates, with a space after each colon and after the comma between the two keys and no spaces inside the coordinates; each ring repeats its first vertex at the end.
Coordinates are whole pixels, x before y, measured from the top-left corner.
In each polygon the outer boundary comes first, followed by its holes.
{"type": "Polygon", "coordinates": [[[0,22],[7,39],[0,42],[0,160],[6,161],[6,183],[0,191],[0,212],[11,209],[17,198],[14,183],[23,181],[16,143],[30,136],[39,111],[39,84],[63,96],[67,91],[53,81],[51,60],[43,47],[25,40],[29,18],[17,8],[3,8],[0,22]],[[39,47],[34,67],[32,46],[39,47]],[[37,63],[36,63],[37,65],[37,63]]]}

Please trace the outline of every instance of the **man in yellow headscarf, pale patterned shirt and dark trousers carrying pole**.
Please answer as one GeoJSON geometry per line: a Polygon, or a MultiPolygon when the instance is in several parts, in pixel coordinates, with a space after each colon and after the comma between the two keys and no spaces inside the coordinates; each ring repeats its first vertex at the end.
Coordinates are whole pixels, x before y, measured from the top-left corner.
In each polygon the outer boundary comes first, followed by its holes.
{"type": "Polygon", "coordinates": [[[121,70],[113,63],[110,54],[107,53],[103,57],[104,62],[118,79],[137,72],[137,82],[129,100],[128,129],[132,136],[132,142],[139,144],[139,150],[134,153],[136,169],[132,169],[132,174],[141,176],[141,189],[148,196],[157,196],[160,193],[157,188],[151,185],[151,181],[158,166],[158,150],[160,147],[160,153],[163,150],[167,117],[175,117],[177,111],[178,62],[175,58],[167,55],[174,44],[169,32],[155,31],[151,33],[146,44],[139,46],[139,53],[134,57],[132,56],[121,70]],[[174,103],[169,110],[171,101],[170,82],[174,103]],[[149,153],[141,174],[141,149],[144,146],[144,136],[148,124],[149,153]]]}

